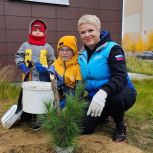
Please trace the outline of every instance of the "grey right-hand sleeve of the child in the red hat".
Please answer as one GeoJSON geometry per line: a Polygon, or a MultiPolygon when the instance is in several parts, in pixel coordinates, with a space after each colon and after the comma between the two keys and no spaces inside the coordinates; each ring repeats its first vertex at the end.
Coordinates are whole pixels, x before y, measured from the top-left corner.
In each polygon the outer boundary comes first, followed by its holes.
{"type": "Polygon", "coordinates": [[[48,45],[47,50],[48,50],[48,52],[47,52],[47,62],[48,62],[48,65],[51,65],[55,60],[54,49],[51,45],[48,45]]]}

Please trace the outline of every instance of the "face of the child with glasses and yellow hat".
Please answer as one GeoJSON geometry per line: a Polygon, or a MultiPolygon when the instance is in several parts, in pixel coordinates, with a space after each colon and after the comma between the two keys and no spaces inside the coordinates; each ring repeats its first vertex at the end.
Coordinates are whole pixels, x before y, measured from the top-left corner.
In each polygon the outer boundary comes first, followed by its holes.
{"type": "Polygon", "coordinates": [[[64,61],[71,59],[74,55],[72,49],[67,46],[63,46],[59,48],[58,51],[59,51],[60,58],[64,61]]]}

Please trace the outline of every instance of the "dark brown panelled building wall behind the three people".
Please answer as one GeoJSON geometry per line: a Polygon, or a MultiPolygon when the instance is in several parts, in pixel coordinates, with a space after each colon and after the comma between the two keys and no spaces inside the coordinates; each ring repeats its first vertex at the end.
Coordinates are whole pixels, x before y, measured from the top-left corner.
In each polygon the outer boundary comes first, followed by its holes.
{"type": "Polygon", "coordinates": [[[15,65],[14,54],[27,40],[29,22],[43,18],[48,25],[48,42],[56,50],[56,43],[63,35],[75,35],[77,21],[83,14],[95,14],[108,29],[112,38],[121,42],[123,0],[70,0],[69,6],[0,0],[0,65],[15,65]]]}

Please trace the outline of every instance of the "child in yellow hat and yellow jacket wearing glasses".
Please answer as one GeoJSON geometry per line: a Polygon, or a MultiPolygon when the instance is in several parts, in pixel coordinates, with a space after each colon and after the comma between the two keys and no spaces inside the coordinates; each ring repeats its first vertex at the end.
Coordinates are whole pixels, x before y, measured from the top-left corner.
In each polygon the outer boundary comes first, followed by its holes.
{"type": "MultiPolygon", "coordinates": [[[[78,64],[78,49],[77,42],[74,36],[63,36],[57,44],[58,58],[54,61],[49,69],[36,64],[36,69],[39,73],[46,71],[54,73],[57,77],[60,95],[68,92],[74,92],[77,81],[82,80],[80,67],[78,64]]],[[[65,106],[64,101],[60,101],[60,106],[65,106]]]]}

